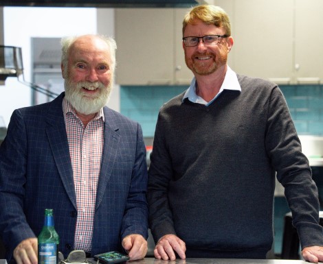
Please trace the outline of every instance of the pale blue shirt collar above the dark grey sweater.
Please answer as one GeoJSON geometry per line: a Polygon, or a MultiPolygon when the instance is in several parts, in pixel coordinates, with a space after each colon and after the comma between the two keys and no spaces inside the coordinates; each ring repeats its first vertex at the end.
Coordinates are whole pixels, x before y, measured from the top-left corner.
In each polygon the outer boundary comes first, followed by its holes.
{"type": "Polygon", "coordinates": [[[236,73],[232,71],[229,65],[227,65],[227,72],[225,73],[225,77],[223,80],[223,84],[220,88],[220,91],[217,95],[215,95],[215,97],[211,101],[207,102],[202,97],[197,95],[196,86],[197,86],[197,80],[195,79],[195,77],[193,77],[193,80],[190,83],[190,87],[188,87],[188,89],[186,90],[182,101],[188,98],[193,103],[204,104],[205,106],[209,106],[216,99],[216,97],[218,97],[223,92],[223,90],[241,91],[241,86],[238,82],[238,77],[236,77],[236,73]]]}

